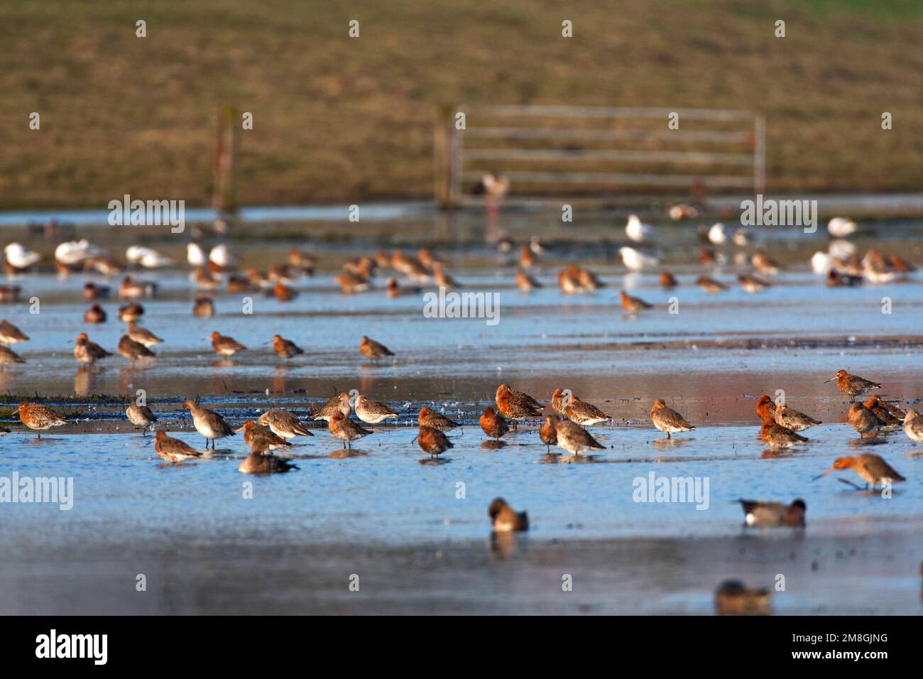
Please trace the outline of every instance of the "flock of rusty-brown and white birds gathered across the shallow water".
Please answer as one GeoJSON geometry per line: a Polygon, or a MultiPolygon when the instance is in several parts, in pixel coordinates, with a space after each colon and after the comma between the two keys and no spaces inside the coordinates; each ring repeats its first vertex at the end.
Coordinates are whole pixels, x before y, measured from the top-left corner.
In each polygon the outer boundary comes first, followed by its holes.
{"type": "MultiPolygon", "coordinates": [[[[677,218],[683,217],[680,215],[677,218]]],[[[916,269],[913,264],[904,261],[899,256],[885,258],[874,249],[869,250],[863,258],[859,259],[855,248],[845,239],[857,232],[857,225],[850,220],[834,218],[827,228],[834,240],[831,241],[827,252],[818,251],[814,254],[811,258],[811,266],[815,273],[826,276],[826,283],[829,286],[900,280],[916,269]]],[[[625,233],[629,240],[640,245],[650,244],[658,236],[655,228],[641,223],[635,215],[629,217],[625,233]]],[[[700,236],[703,241],[718,248],[725,246],[725,243],[733,243],[740,248],[749,244],[749,234],[746,230],[737,229],[731,234],[725,229],[724,224],[713,224],[710,228],[701,228],[700,236]]],[[[501,239],[497,247],[509,260],[514,244],[509,240],[501,239]]],[[[541,287],[533,275],[530,275],[530,270],[537,267],[544,251],[541,243],[535,238],[530,243],[521,245],[515,283],[522,291],[528,292],[535,287],[541,287]]],[[[26,249],[18,243],[7,245],[4,254],[6,273],[13,276],[28,272],[31,267],[42,260],[40,253],[26,249]]],[[[262,291],[282,302],[296,297],[297,292],[291,284],[302,275],[311,275],[314,267],[313,258],[297,249],[290,251],[287,262],[271,264],[265,271],[245,269],[242,273],[237,273],[236,258],[225,245],[216,246],[206,253],[198,243],[190,243],[186,254],[186,259],[193,268],[191,278],[199,289],[210,290],[225,285],[227,291],[231,293],[262,291]]],[[[630,271],[640,272],[645,268],[660,265],[659,260],[642,249],[624,247],[619,249],[619,254],[622,262],[630,271]]],[[[737,253],[738,256],[741,254],[737,253]]],[[[174,264],[160,252],[139,246],[127,249],[126,261],[142,269],[158,269],[174,264]]],[[[715,269],[724,264],[725,256],[720,251],[715,252],[714,249],[703,248],[700,261],[706,268],[715,269]]],[[[737,276],[740,285],[749,293],[761,292],[772,285],[769,278],[783,268],[761,249],[753,252],[749,257],[749,263],[752,265],[753,272],[741,273],[737,276]]],[[[400,297],[406,294],[418,294],[421,288],[414,285],[435,283],[447,288],[458,286],[458,282],[444,270],[445,264],[446,261],[439,259],[428,249],[420,249],[416,255],[408,255],[400,250],[390,253],[379,250],[372,257],[361,256],[346,261],[342,265],[342,272],[337,274],[336,281],[344,293],[361,293],[372,289],[372,279],[378,269],[390,268],[395,273],[406,276],[413,284],[399,285],[395,278],[388,278],[385,285],[387,295],[400,297]]],[[[54,250],[54,269],[63,275],[82,271],[111,276],[122,273],[126,266],[115,261],[106,250],[93,246],[86,240],[81,240],[62,243],[54,250]]],[[[593,272],[580,266],[569,266],[559,271],[557,283],[565,294],[593,292],[605,285],[593,272]]],[[[660,283],[669,288],[677,285],[677,279],[673,274],[662,271],[660,283]]],[[[727,289],[725,284],[710,275],[699,276],[696,284],[713,294],[727,289]]],[[[128,303],[118,309],[118,318],[127,323],[127,328],[126,333],[119,340],[117,350],[120,355],[131,362],[154,357],[155,354],[150,347],[162,342],[156,334],[138,326],[138,321],[144,314],[144,308],[138,303],[138,299],[153,297],[156,289],[155,283],[139,280],[133,275],[126,275],[121,285],[118,286],[118,297],[127,300],[128,303]]],[[[19,292],[18,285],[0,286],[0,301],[17,301],[19,292]]],[[[95,300],[109,297],[109,294],[108,285],[92,282],[84,285],[83,297],[94,300],[94,304],[84,313],[84,321],[88,323],[106,321],[105,310],[95,300]]],[[[652,307],[639,297],[629,296],[625,291],[621,291],[619,297],[623,308],[630,313],[638,313],[652,307]]],[[[194,315],[210,318],[214,312],[214,302],[211,297],[203,296],[196,299],[193,307],[194,315]]],[[[6,345],[28,339],[29,337],[16,326],[7,321],[0,321],[0,364],[22,362],[23,359],[6,345]]],[[[239,351],[246,350],[246,346],[234,340],[233,337],[224,336],[221,333],[211,333],[208,339],[211,340],[214,351],[223,357],[233,356],[239,351]]],[[[102,346],[91,342],[87,333],[80,333],[74,341],[74,357],[81,364],[91,366],[98,360],[112,356],[102,346]]],[[[274,335],[270,341],[274,352],[281,358],[292,358],[304,353],[302,348],[293,341],[278,334],[274,335]]],[[[359,348],[366,358],[378,360],[378,358],[394,356],[387,346],[365,336],[362,337],[359,348]]],[[[848,394],[851,400],[881,387],[877,382],[850,375],[845,370],[837,372],[828,382],[833,380],[837,381],[840,391],[848,394]]],[[[171,463],[181,463],[209,455],[209,443],[214,450],[216,439],[234,436],[235,432],[243,432],[245,443],[250,446],[251,453],[241,463],[240,471],[258,474],[286,472],[297,467],[290,460],[273,455],[272,452],[288,448],[290,446],[288,441],[297,436],[313,436],[294,413],[278,408],[263,412],[257,421],[247,420],[240,428],[234,430],[221,415],[200,406],[198,401],[186,400],[183,406],[191,414],[196,430],[206,438],[206,452],[196,450],[183,441],[168,436],[164,431],[158,431],[155,437],[157,455],[171,463]]],[[[544,406],[533,396],[511,389],[507,384],[497,387],[496,406],[496,409],[493,407],[485,409],[480,417],[480,425],[488,437],[497,441],[509,431],[510,423],[515,429],[517,422],[527,418],[539,418],[544,410],[544,406]]],[[[552,394],[551,406],[556,415],[545,418],[544,424],[538,430],[542,443],[548,446],[549,451],[550,446],[557,445],[570,455],[582,455],[605,447],[585,429],[585,427],[611,420],[599,408],[581,401],[569,390],[561,389],[555,390],[552,394]]],[[[374,433],[350,418],[353,410],[356,417],[367,424],[378,424],[385,419],[399,417],[389,406],[373,401],[365,395],[359,395],[353,404],[348,394],[333,396],[326,404],[312,411],[309,417],[314,420],[326,420],[330,434],[340,439],[344,447],[349,447],[354,440],[374,433]]],[[[756,412],[762,421],[761,439],[771,448],[785,448],[806,443],[808,439],[797,432],[821,424],[819,420],[810,418],[788,406],[774,404],[767,395],[761,396],[758,400],[756,412]]],[[[48,430],[65,423],[65,418],[40,404],[21,403],[14,413],[18,414],[23,424],[37,431],[48,430]]],[[[654,427],[664,431],[667,437],[674,433],[695,429],[677,411],[667,407],[663,399],[654,402],[650,415],[654,427]]],[[[151,427],[157,422],[157,417],[150,407],[139,406],[135,403],[126,408],[126,417],[134,425],[142,428],[151,427]]],[[[847,418],[849,424],[859,432],[860,436],[875,435],[879,430],[894,430],[903,426],[906,435],[911,440],[923,443],[923,418],[915,410],[905,413],[897,406],[882,401],[878,395],[872,395],[865,403],[852,403],[849,406],[847,418]]],[[[461,426],[460,423],[428,407],[420,410],[417,421],[419,431],[415,440],[420,449],[431,458],[441,455],[452,447],[445,432],[461,426]]],[[[839,457],[834,460],[833,466],[820,476],[837,469],[850,468],[872,487],[905,480],[881,456],[871,454],[839,457]]],[[[796,500],[790,505],[751,501],[741,501],[741,503],[748,524],[759,526],[804,525],[805,503],[801,500],[796,500]]],[[[528,518],[525,513],[514,512],[499,498],[491,503],[489,514],[497,531],[528,528],[528,518]]]]}

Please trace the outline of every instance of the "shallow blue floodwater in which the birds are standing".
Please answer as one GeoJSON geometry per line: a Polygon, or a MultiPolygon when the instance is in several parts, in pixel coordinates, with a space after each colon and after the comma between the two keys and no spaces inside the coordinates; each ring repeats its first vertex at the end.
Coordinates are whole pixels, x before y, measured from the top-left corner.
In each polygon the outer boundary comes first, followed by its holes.
{"type": "MultiPolygon", "coordinates": [[[[0,319],[30,341],[12,346],[25,364],[0,367],[0,394],[14,404],[0,412],[38,394],[71,421],[37,439],[18,419],[3,418],[12,431],[0,436],[0,476],[69,477],[74,491],[67,511],[3,505],[0,587],[17,593],[0,612],[701,613],[712,611],[713,589],[726,577],[772,587],[779,574],[786,587],[775,592],[776,612],[923,612],[923,446],[900,430],[860,439],[845,422],[845,394],[824,383],[845,369],[881,382],[882,398],[902,407],[923,401],[923,275],[828,288],[809,266],[828,246],[822,227],[814,235],[765,228],[752,231],[746,248],[716,249],[727,261],[711,274],[730,289],[709,295],[693,285],[705,271],[694,224],[659,224],[663,265],[643,273],[618,260],[627,244],[621,218],[577,229],[537,213],[500,224],[459,215],[237,227],[228,243],[242,267],[283,261],[292,247],[317,258],[313,277],[295,281],[299,295],[288,302],[197,290],[185,263],[188,236],[81,226],[79,236],[119,258],[143,234],[145,245],[182,262],[138,273],[160,285],[142,300],[139,324],[163,343],[156,358],[135,365],[116,355],[78,367],[72,355],[81,332],[114,351],[123,302],[114,293],[102,300],[109,320],[88,325],[80,289],[88,280],[117,288],[120,276],[60,279],[48,271],[8,282],[21,286],[20,301],[0,305],[0,319]],[[541,239],[545,252],[532,274],[544,287],[516,288],[518,245],[504,255],[486,242],[500,236],[541,239]],[[422,292],[390,299],[383,290],[390,272],[355,295],[334,281],[349,257],[422,245],[449,260],[459,292],[497,293],[496,324],[429,317],[422,292]],[[748,294],[735,276],[757,245],[785,270],[748,294]],[[557,272],[572,263],[605,287],[562,294],[557,272]],[[662,269],[677,276],[677,287],[659,285],[662,269]],[[627,314],[620,289],[653,309],[627,314]],[[215,298],[213,318],[191,313],[202,294],[215,298]],[[39,313],[30,313],[32,298],[39,313]],[[213,331],[248,348],[219,358],[206,339],[213,331]],[[305,354],[276,357],[264,344],[276,333],[305,354]],[[363,357],[362,335],[395,356],[363,357]],[[561,387],[600,407],[613,421],[590,430],[605,449],[568,464],[547,454],[540,420],[511,431],[505,445],[485,445],[477,418],[501,382],[546,406],[561,387]],[[349,452],[323,422],[311,422],[315,436],[284,454],[297,470],[254,477],[237,471],[248,452],[240,435],[220,440],[208,459],[164,463],[150,434],[124,417],[138,389],[161,418],[158,428],[197,448],[204,442],[180,408],[184,398],[201,397],[238,426],[269,407],[305,421],[330,395],[356,390],[400,418],[371,426],[375,433],[349,452]],[[823,422],[802,432],[808,444],[781,453],[761,442],[754,414],[760,394],[774,398],[780,389],[790,406],[823,422]],[[654,430],[648,413],[657,398],[697,429],[669,440],[654,430]],[[464,425],[435,462],[414,441],[424,405],[464,425]],[[849,471],[811,480],[834,458],[864,452],[906,477],[893,497],[837,480],[860,482],[849,471]],[[636,479],[652,474],[707,480],[708,490],[699,503],[637,502],[636,479]],[[527,537],[490,540],[486,507],[498,495],[529,512],[527,537]],[[797,497],[808,506],[807,528],[742,527],[737,499],[797,497]],[[145,593],[136,591],[138,574],[147,577],[145,593]],[[572,592],[562,592],[565,574],[572,592]],[[349,588],[353,575],[359,591],[349,588]]],[[[24,229],[3,230],[4,242],[26,242],[24,229]]],[[[923,223],[881,222],[862,224],[851,240],[859,256],[875,247],[919,263],[921,236],[923,223]]]]}

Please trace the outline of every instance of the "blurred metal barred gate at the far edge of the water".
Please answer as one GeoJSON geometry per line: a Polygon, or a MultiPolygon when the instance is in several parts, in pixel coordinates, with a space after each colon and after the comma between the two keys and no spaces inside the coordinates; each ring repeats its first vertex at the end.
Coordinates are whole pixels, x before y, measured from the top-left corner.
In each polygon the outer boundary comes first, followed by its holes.
{"type": "Polygon", "coordinates": [[[445,206],[482,202],[474,188],[488,172],[509,179],[513,202],[762,193],[765,184],[765,120],[748,111],[467,105],[444,111],[436,132],[445,206]]]}

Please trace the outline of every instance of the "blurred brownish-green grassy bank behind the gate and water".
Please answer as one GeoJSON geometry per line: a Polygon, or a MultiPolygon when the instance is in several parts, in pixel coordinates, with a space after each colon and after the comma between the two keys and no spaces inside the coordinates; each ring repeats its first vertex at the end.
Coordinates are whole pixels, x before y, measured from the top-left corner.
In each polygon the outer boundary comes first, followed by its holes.
{"type": "Polygon", "coordinates": [[[770,189],[918,190],[923,4],[901,0],[0,6],[0,207],[207,204],[218,111],[240,204],[428,198],[451,103],[726,107],[768,118],[770,189]],[[148,37],[135,37],[135,21],[148,37]],[[358,18],[361,37],[346,36],[358,18]],[[560,22],[574,22],[574,38],[560,22]],[[787,37],[773,37],[786,21],[787,37]],[[42,129],[28,128],[29,114],[42,129]],[[881,112],[894,128],[882,131],[881,112]]]}

